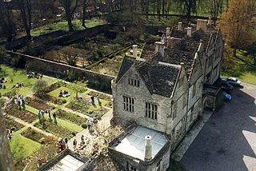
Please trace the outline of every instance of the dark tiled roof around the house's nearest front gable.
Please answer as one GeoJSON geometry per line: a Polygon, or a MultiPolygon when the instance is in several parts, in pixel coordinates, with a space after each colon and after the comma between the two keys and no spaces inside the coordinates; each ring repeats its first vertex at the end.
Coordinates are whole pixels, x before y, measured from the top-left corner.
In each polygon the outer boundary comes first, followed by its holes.
{"type": "MultiPolygon", "coordinates": [[[[158,56],[161,55],[154,54],[155,58],[158,56]]],[[[146,61],[124,58],[116,82],[118,83],[130,67],[134,66],[150,93],[171,97],[181,66],[157,62],[154,57],[146,61]]]]}

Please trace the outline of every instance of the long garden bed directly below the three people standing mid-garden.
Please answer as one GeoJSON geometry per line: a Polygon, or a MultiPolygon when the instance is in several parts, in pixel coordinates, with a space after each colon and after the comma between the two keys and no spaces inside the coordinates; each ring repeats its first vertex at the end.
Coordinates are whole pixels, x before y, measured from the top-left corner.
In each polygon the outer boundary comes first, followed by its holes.
{"type": "MultiPolygon", "coordinates": [[[[58,119],[57,119],[58,121],[58,119]]],[[[58,136],[58,137],[73,137],[72,135],[72,131],[66,128],[63,128],[60,125],[56,125],[54,124],[54,122],[50,122],[50,121],[45,121],[45,126],[42,127],[42,124],[40,124],[39,122],[35,123],[34,126],[38,127],[39,129],[45,130],[48,133],[53,133],[54,135],[58,136]]]]}

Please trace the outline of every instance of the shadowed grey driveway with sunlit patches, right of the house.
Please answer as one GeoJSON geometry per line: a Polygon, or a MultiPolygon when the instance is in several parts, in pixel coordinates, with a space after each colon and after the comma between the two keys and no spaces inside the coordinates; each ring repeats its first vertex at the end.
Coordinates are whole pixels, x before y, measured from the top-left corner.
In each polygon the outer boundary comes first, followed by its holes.
{"type": "Polygon", "coordinates": [[[256,85],[234,89],[182,157],[192,171],[256,170],[256,85]]]}

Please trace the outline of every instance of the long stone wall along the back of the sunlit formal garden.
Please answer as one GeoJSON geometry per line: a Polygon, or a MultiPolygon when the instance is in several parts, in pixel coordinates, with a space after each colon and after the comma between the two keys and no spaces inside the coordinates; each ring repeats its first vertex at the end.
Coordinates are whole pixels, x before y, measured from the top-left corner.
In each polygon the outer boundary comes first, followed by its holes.
{"type": "MultiPolygon", "coordinates": [[[[7,53],[10,54],[12,60],[17,58],[17,60],[22,61],[20,62],[22,63],[22,66],[19,66],[22,69],[33,70],[39,74],[48,75],[54,78],[69,78],[69,81],[86,80],[88,81],[90,88],[111,93],[111,80],[114,79],[113,76],[99,74],[97,72],[84,70],[58,62],[51,62],[46,59],[36,58],[17,52],[7,51],[7,53]],[[72,78],[70,78],[70,75],[72,75],[72,78]]],[[[5,60],[5,64],[10,65],[10,63],[6,63],[7,61],[8,60],[5,60]]]]}

